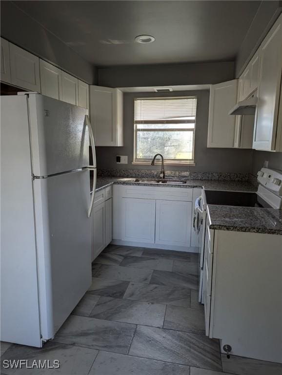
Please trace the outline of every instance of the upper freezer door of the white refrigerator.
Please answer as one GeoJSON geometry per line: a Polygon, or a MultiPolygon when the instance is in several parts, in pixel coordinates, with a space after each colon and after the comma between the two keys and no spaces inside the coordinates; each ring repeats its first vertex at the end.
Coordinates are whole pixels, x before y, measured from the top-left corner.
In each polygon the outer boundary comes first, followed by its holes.
{"type": "Polygon", "coordinates": [[[40,94],[28,96],[33,173],[48,176],[89,164],[87,109],[40,94]]]}

